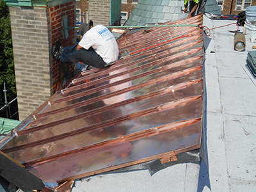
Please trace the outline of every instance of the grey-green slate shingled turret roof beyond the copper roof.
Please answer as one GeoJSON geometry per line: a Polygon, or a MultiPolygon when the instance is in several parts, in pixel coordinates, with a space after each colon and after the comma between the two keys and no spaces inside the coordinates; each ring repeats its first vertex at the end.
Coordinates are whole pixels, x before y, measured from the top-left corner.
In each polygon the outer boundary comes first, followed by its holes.
{"type": "MultiPolygon", "coordinates": [[[[125,26],[140,26],[145,24],[163,23],[169,20],[179,20],[188,17],[184,9],[184,0],[140,0],[125,26]]],[[[216,0],[207,0],[205,12],[221,15],[216,0]]]]}

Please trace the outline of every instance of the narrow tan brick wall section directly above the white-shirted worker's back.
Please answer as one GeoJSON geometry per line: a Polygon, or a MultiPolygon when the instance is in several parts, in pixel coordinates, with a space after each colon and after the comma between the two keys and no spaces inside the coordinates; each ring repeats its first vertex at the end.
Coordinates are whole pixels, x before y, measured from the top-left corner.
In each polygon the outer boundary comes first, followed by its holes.
{"type": "Polygon", "coordinates": [[[93,25],[109,26],[110,0],[90,0],[89,10],[89,19],[93,20],[93,25]]]}

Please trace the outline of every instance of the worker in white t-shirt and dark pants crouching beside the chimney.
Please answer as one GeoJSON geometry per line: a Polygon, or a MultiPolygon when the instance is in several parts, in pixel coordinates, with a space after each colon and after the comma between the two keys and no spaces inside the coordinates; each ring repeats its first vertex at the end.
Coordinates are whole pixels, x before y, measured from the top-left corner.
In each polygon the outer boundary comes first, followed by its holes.
{"type": "Polygon", "coordinates": [[[83,23],[79,27],[79,33],[83,38],[78,45],[63,48],[60,42],[56,42],[52,51],[56,61],[63,64],[83,62],[100,68],[118,60],[118,45],[108,28],[97,25],[90,29],[89,24],[83,23]]]}

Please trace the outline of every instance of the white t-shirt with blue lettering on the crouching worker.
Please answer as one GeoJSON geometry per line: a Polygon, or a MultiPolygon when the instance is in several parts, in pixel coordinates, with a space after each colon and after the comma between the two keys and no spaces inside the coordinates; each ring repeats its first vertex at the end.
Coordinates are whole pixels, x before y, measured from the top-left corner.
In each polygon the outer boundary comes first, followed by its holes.
{"type": "Polygon", "coordinates": [[[84,34],[79,45],[84,49],[92,46],[106,63],[118,60],[119,49],[115,36],[105,26],[97,25],[91,28],[84,34]]]}

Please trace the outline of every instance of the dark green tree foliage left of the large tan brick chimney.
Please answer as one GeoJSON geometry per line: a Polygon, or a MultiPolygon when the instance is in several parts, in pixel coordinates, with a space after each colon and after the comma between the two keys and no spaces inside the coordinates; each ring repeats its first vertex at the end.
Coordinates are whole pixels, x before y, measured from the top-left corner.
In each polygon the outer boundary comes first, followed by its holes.
{"type": "Polygon", "coordinates": [[[4,106],[4,82],[10,101],[16,97],[12,30],[8,6],[0,0],[0,108],[4,106]]]}

